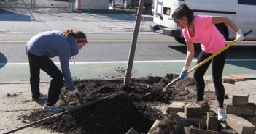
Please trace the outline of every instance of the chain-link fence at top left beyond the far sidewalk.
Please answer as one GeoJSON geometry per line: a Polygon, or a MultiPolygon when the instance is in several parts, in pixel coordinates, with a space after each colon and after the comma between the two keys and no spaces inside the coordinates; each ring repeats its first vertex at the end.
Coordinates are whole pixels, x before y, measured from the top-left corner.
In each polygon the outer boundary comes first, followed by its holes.
{"type": "Polygon", "coordinates": [[[72,0],[0,0],[0,8],[71,8],[72,0]]]}

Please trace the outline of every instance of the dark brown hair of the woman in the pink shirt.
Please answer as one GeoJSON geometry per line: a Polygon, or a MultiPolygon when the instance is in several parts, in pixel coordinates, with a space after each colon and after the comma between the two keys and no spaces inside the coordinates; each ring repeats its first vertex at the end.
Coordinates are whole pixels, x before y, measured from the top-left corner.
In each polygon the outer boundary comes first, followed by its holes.
{"type": "Polygon", "coordinates": [[[189,7],[187,7],[187,4],[182,4],[180,7],[175,9],[173,14],[171,14],[173,19],[182,19],[184,16],[187,17],[187,23],[190,25],[193,21],[194,12],[189,7]]]}

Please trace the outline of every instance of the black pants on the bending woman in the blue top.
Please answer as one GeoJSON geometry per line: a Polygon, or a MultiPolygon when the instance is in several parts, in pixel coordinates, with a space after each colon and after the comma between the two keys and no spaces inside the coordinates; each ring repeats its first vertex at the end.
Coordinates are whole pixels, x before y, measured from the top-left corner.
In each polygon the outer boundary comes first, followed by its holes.
{"type": "Polygon", "coordinates": [[[61,88],[63,87],[63,74],[61,70],[53,63],[53,61],[48,56],[35,56],[28,52],[28,60],[30,67],[30,85],[32,98],[38,99],[40,96],[40,69],[50,75],[51,80],[48,99],[46,104],[48,106],[53,106],[60,96],[61,88]]]}

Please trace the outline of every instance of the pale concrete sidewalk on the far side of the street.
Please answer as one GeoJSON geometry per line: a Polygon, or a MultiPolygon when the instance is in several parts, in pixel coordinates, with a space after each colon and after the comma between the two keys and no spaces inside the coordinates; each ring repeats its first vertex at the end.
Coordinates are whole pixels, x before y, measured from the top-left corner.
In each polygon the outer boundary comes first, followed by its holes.
{"type": "MultiPolygon", "coordinates": [[[[59,12],[53,9],[37,12],[8,12],[0,10],[0,33],[39,33],[46,30],[72,28],[85,33],[132,32],[136,14],[107,12],[59,12]]],[[[141,17],[140,31],[149,31],[152,15],[141,17]]]]}

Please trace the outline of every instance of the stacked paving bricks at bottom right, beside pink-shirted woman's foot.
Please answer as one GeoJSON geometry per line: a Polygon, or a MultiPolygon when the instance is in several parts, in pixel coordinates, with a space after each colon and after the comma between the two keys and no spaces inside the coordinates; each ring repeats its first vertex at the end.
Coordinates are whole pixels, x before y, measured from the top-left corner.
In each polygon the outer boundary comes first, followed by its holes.
{"type": "MultiPolygon", "coordinates": [[[[234,95],[232,104],[227,104],[227,125],[238,134],[254,134],[256,127],[244,117],[255,117],[256,106],[249,103],[249,94],[234,95]]],[[[223,134],[225,130],[223,130],[223,134]]],[[[229,134],[229,133],[227,133],[229,134]]]]}

